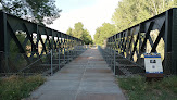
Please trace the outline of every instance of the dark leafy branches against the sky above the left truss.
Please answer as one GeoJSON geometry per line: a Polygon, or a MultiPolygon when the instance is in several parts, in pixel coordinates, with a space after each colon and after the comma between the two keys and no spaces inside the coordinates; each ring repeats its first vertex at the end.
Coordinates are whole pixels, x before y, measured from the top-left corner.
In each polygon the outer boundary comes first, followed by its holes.
{"type": "Polygon", "coordinates": [[[60,15],[54,0],[1,0],[3,11],[39,24],[52,24],[60,15]]]}

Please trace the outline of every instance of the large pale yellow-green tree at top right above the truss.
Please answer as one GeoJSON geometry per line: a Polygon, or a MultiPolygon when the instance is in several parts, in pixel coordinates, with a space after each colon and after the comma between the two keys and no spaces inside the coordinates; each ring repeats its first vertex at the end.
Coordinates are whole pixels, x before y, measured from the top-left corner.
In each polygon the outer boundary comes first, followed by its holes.
{"type": "Polygon", "coordinates": [[[122,0],[112,16],[118,32],[157,15],[172,7],[176,0],[122,0]]]}

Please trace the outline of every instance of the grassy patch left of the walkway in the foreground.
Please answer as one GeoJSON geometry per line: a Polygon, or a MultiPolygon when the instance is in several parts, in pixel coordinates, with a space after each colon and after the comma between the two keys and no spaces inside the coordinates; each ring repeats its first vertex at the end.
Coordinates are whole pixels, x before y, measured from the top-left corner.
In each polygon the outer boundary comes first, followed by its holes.
{"type": "Polygon", "coordinates": [[[27,98],[45,80],[41,75],[29,77],[12,75],[8,78],[0,78],[0,100],[21,100],[27,98]]]}

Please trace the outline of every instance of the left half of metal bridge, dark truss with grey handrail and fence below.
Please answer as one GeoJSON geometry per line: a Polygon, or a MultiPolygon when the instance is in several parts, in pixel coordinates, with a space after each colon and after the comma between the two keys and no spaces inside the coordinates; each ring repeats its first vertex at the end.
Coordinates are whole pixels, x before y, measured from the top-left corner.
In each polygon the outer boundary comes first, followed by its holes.
{"type": "Polygon", "coordinates": [[[1,74],[54,72],[84,52],[83,43],[73,36],[0,12],[1,74]]]}

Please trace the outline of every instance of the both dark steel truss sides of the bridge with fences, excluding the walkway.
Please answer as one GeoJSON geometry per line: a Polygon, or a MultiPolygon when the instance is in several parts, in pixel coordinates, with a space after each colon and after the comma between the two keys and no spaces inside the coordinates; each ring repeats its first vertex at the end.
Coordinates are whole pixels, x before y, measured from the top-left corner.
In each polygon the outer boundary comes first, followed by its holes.
{"type": "MultiPolygon", "coordinates": [[[[0,73],[52,74],[87,48],[75,37],[0,12],[0,73]]],[[[177,9],[106,39],[99,47],[116,75],[144,74],[143,53],[159,52],[165,74],[177,74],[177,9]]]]}

